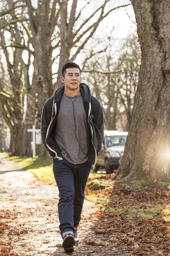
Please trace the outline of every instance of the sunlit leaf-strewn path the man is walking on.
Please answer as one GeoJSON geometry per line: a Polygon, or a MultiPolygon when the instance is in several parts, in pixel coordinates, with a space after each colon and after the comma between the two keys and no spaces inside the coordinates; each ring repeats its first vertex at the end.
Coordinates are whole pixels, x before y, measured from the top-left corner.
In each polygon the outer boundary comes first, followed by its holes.
{"type": "MultiPolygon", "coordinates": [[[[65,255],[58,220],[58,189],[46,186],[19,163],[0,162],[0,256],[65,255]]],[[[130,256],[130,248],[114,247],[96,234],[98,208],[85,200],[79,227],[80,243],[73,256],[130,256]]],[[[100,227],[98,227],[100,229],[100,227]]]]}

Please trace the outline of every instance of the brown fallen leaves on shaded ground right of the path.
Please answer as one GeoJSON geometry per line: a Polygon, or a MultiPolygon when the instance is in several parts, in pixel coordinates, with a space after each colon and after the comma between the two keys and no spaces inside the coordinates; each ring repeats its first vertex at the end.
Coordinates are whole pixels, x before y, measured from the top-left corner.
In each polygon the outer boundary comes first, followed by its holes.
{"type": "Polygon", "coordinates": [[[124,187],[106,175],[91,179],[86,195],[101,207],[94,228],[101,240],[124,245],[127,255],[170,256],[169,191],[124,187]],[[105,188],[92,191],[95,184],[105,188]]]}

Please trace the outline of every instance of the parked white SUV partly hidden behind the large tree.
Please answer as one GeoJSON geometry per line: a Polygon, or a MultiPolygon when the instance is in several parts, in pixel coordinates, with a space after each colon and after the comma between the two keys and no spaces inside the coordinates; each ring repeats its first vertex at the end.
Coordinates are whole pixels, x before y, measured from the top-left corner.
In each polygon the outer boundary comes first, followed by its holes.
{"type": "Polygon", "coordinates": [[[110,174],[113,169],[119,167],[119,160],[124,152],[127,135],[128,132],[104,131],[102,148],[93,168],[95,172],[98,171],[99,167],[104,166],[106,173],[110,174]]]}

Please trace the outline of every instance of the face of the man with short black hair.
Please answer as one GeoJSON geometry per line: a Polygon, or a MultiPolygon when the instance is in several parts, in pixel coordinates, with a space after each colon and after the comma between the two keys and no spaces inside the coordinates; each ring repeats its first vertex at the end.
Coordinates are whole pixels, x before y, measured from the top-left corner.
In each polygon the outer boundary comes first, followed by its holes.
{"type": "Polygon", "coordinates": [[[81,82],[81,75],[79,69],[77,67],[70,67],[67,68],[65,71],[65,77],[61,76],[61,81],[64,81],[65,88],[72,91],[77,91],[81,82]]]}

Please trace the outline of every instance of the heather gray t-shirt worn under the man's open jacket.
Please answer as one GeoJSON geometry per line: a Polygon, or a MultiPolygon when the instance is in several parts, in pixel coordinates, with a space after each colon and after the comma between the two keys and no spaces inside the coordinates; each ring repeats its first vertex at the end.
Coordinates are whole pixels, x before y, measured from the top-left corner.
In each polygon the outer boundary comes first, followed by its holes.
{"type": "Polygon", "coordinates": [[[55,128],[55,139],[63,157],[73,163],[87,161],[90,145],[83,97],[63,94],[55,128]]]}

